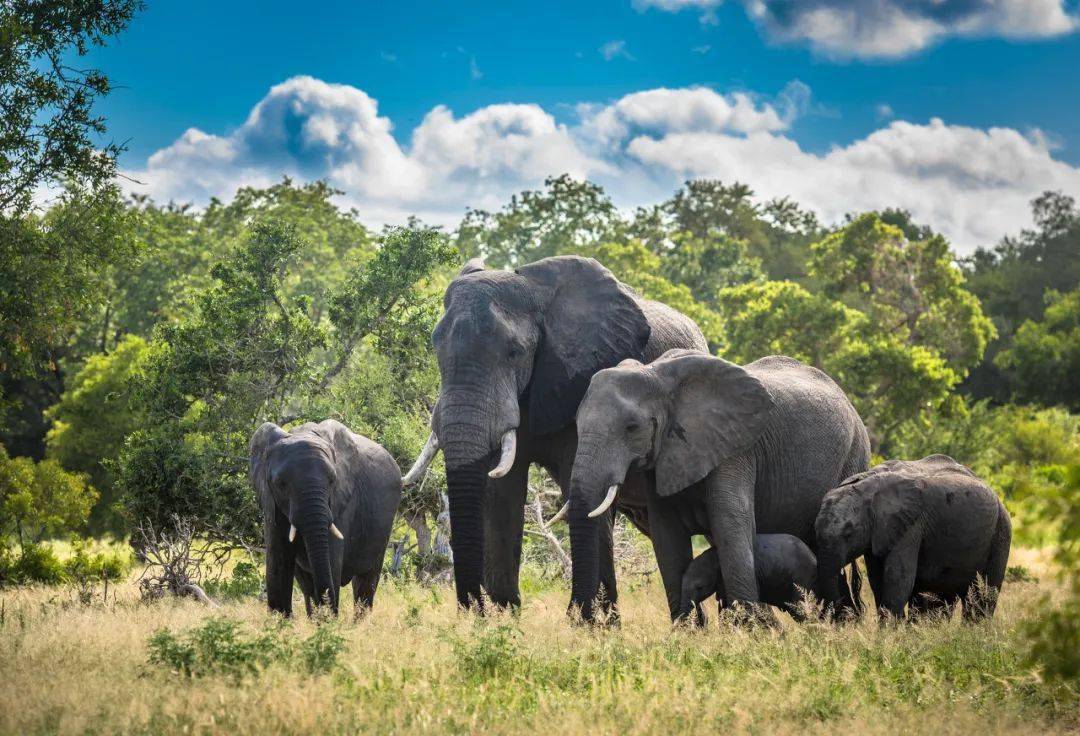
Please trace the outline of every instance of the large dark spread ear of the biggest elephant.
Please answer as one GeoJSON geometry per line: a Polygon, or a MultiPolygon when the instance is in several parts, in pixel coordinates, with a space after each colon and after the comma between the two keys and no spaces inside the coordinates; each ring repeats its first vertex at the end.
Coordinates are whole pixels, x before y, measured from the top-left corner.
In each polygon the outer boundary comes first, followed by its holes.
{"type": "Polygon", "coordinates": [[[529,429],[546,434],[573,421],[594,373],[642,360],[651,331],[633,293],[592,258],[544,258],[517,273],[538,287],[543,309],[529,429]]]}

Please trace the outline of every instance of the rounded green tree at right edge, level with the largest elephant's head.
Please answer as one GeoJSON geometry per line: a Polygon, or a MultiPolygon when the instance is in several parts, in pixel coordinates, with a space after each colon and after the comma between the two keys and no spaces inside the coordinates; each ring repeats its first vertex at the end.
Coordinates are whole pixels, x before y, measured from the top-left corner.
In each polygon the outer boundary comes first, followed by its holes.
{"type": "Polygon", "coordinates": [[[1024,322],[995,363],[1008,371],[1015,398],[1080,411],[1080,289],[1047,292],[1042,321],[1024,322]]]}

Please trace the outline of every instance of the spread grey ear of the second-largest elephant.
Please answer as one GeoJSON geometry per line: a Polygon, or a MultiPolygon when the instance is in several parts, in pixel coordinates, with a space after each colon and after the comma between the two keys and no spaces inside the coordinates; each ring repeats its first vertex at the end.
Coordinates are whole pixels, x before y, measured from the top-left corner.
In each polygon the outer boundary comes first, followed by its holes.
{"type": "Polygon", "coordinates": [[[670,496],[697,483],[729,457],[750,450],[765,430],[772,397],[745,369],[691,350],[669,350],[649,366],[671,387],[673,404],[657,454],[657,492],[670,496]]]}

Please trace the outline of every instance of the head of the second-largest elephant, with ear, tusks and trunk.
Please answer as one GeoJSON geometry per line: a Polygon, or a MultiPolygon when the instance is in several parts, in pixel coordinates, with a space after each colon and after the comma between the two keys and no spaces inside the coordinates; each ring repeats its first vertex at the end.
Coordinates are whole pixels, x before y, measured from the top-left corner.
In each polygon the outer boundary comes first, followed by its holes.
{"type": "Polygon", "coordinates": [[[652,470],[671,496],[744,453],[772,411],[765,386],[744,369],[691,350],[669,350],[643,365],[600,371],[578,410],[570,478],[571,606],[588,620],[598,590],[595,519],[615,501],[627,470],[652,470]]]}

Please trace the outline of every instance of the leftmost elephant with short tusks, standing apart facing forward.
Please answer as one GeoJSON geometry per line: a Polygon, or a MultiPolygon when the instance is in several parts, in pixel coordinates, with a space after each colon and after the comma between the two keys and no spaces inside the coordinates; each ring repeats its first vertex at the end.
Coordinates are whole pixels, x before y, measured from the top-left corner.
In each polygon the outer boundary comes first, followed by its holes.
{"type": "Polygon", "coordinates": [[[284,431],[266,423],[252,437],[251,477],[262,509],[267,603],[293,613],[293,579],[308,615],[352,581],[357,613],[370,608],[379,585],[402,480],[381,446],[327,419],[284,431]],[[329,532],[334,523],[345,539],[329,532]],[[297,528],[288,540],[289,525],[297,528]]]}

